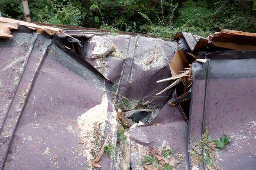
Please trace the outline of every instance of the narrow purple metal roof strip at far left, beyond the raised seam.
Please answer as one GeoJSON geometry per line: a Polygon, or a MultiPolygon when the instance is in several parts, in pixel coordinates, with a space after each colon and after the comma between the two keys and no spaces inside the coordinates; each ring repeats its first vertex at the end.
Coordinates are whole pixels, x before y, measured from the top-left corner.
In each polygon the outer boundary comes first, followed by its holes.
{"type": "Polygon", "coordinates": [[[14,38],[10,41],[0,39],[0,128],[33,46],[32,31],[14,31],[12,34],[14,38]]]}

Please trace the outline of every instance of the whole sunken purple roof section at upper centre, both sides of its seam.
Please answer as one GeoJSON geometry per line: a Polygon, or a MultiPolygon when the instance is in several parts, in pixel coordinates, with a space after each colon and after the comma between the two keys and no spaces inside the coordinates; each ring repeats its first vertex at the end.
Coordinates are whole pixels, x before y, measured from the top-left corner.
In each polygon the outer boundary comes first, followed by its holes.
{"type": "Polygon", "coordinates": [[[147,100],[154,100],[153,105],[162,106],[171,89],[159,95],[160,98],[155,94],[167,87],[170,82],[156,84],[156,81],[171,77],[169,64],[177,45],[175,41],[138,36],[96,35],[89,40],[85,60],[114,83],[120,96],[138,101],[149,96],[147,100]],[[156,44],[158,61],[153,60],[146,65],[148,58],[155,54],[156,44]],[[102,54],[111,45],[116,46],[114,56],[90,59],[94,54],[102,54]]]}

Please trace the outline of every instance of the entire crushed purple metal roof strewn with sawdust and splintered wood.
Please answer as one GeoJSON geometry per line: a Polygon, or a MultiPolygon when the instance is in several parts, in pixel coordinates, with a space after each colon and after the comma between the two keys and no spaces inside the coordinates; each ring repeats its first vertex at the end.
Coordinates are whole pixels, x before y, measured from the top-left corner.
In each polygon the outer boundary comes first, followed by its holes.
{"type": "Polygon", "coordinates": [[[53,36],[12,22],[11,39],[0,39],[2,169],[256,166],[255,51],[214,52],[214,38],[188,33],[177,33],[179,43],[71,29],[53,36]]]}

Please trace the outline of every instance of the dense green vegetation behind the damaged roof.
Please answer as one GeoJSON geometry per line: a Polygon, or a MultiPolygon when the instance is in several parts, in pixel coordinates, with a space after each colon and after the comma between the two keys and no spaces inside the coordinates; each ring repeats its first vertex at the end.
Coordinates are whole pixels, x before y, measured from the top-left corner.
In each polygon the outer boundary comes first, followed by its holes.
{"type": "MultiPolygon", "coordinates": [[[[173,36],[218,27],[256,32],[252,0],[28,0],[31,19],[69,26],[173,36]]],[[[1,0],[3,17],[24,20],[21,0],[1,0]]]]}

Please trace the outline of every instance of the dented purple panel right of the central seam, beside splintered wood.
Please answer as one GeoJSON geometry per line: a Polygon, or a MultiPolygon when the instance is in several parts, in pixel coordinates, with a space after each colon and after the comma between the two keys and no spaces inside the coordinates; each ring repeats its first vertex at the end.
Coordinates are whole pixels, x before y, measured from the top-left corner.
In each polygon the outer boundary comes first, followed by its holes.
{"type": "MultiPolygon", "coordinates": [[[[170,85],[170,82],[156,83],[157,80],[171,77],[169,64],[177,47],[175,41],[165,41],[162,39],[140,37],[137,40],[139,46],[134,52],[132,69],[129,75],[129,81],[126,85],[127,97],[142,100],[146,96],[148,101],[155,100],[152,104],[158,106],[158,103],[164,103],[166,98],[157,98],[155,95],[170,85]],[[153,60],[146,65],[149,57],[155,54],[157,44],[158,60],[153,60]]],[[[123,76],[124,77],[124,76],[123,76]]],[[[169,96],[171,89],[163,92],[159,96],[169,96]]],[[[161,104],[160,104],[161,105],[161,104]]]]}

